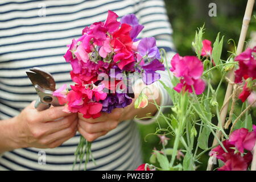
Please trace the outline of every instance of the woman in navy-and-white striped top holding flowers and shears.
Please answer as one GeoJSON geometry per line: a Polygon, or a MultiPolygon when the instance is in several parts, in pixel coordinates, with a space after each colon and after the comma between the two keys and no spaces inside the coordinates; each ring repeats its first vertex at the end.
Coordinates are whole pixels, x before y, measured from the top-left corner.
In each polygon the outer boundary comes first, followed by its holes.
{"type": "MultiPolygon", "coordinates": [[[[34,108],[37,95],[26,76],[32,67],[52,73],[56,88],[72,84],[71,66],[65,63],[65,45],[81,36],[81,30],[106,19],[108,10],[120,17],[135,14],[145,26],[141,37],[154,36],[159,48],[172,54],[171,26],[164,2],[155,1],[7,1],[0,2],[0,169],[1,170],[70,170],[80,134],[94,141],[88,170],[134,170],[142,163],[140,140],[135,122],[147,113],[158,116],[152,104],[144,109],[115,109],[97,119],[64,113],[63,107],[44,111],[34,108]],[[135,121],[135,122],[134,122],[135,121]],[[79,131],[79,132],[77,132],[79,131]],[[45,153],[44,153],[45,152],[45,153]],[[46,165],[39,162],[46,154],[46,165]]],[[[162,72],[168,86],[168,76],[162,72]]],[[[160,93],[156,102],[170,105],[166,90],[153,85],[160,93]]]]}

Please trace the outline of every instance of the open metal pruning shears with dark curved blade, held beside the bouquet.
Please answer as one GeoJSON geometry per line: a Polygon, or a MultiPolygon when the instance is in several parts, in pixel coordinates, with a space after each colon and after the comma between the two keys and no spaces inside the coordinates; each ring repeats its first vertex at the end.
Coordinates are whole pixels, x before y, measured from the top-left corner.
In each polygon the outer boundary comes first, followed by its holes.
{"type": "Polygon", "coordinates": [[[46,110],[52,106],[61,106],[57,97],[53,96],[53,92],[56,90],[55,80],[51,73],[44,71],[41,68],[32,68],[26,72],[28,78],[35,87],[36,93],[39,98],[36,100],[35,108],[38,111],[46,110]]]}

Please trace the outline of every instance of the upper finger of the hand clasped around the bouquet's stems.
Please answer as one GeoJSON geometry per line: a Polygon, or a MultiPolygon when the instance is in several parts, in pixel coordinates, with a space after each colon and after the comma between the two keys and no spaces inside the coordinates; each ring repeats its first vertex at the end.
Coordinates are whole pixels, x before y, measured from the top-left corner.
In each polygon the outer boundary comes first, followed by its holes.
{"type": "Polygon", "coordinates": [[[118,121],[106,121],[98,123],[89,123],[79,120],[78,127],[81,127],[87,133],[97,133],[101,131],[110,131],[117,127],[118,121]]]}

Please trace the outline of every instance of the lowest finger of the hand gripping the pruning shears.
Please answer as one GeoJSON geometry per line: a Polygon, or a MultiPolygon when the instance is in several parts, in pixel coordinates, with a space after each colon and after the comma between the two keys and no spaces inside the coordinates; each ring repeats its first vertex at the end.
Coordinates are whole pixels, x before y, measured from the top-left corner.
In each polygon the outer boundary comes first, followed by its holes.
{"type": "Polygon", "coordinates": [[[67,129],[57,131],[56,133],[52,133],[47,135],[46,137],[40,139],[42,144],[48,145],[50,143],[55,142],[56,140],[60,140],[62,138],[68,137],[77,131],[77,121],[73,122],[70,127],[67,129]]]}

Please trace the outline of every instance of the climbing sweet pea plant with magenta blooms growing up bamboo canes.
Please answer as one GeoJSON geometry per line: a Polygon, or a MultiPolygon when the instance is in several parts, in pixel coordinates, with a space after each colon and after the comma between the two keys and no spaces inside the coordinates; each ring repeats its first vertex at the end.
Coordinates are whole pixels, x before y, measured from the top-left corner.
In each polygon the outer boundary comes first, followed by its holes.
{"type": "MultiPolygon", "coordinates": [[[[256,106],[256,47],[247,48],[237,55],[236,45],[227,60],[221,59],[224,36],[217,35],[213,45],[203,40],[204,27],[196,31],[192,46],[195,55],[181,56],[178,53],[171,60],[165,60],[174,88],[164,88],[172,98],[169,114],[160,110],[167,128],[160,123],[156,133],[162,148],[154,148],[150,164],[142,164],[137,170],[196,170],[203,154],[209,154],[214,169],[247,170],[253,160],[256,140],[256,126],[253,125],[250,109],[256,106]],[[229,71],[234,70],[236,80],[229,80],[229,71]],[[221,80],[214,84],[214,72],[221,74],[221,80]],[[220,125],[220,113],[228,103],[219,99],[220,88],[225,82],[233,85],[229,115],[225,125],[220,125]],[[242,106],[241,106],[242,105],[242,106]],[[218,123],[213,122],[217,118],[218,123]],[[217,133],[221,133],[221,137],[217,133]],[[170,139],[172,148],[166,148],[170,139]],[[217,144],[211,146],[211,139],[217,144]]],[[[228,43],[232,41],[229,40],[228,43]]],[[[164,50],[162,50],[164,55],[164,50]]],[[[164,57],[164,56],[163,56],[164,57]]],[[[223,94],[223,93],[222,93],[223,94]]]]}

